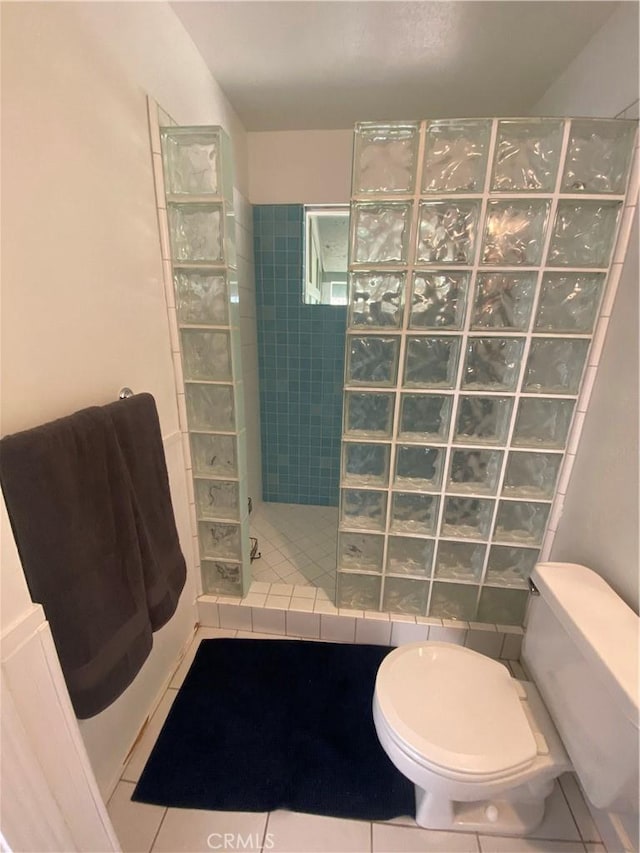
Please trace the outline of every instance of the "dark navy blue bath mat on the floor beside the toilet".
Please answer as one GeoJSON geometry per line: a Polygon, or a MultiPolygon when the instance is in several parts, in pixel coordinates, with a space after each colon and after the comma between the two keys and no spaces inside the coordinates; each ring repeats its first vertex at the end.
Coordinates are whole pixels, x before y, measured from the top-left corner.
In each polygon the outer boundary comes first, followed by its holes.
{"type": "Polygon", "coordinates": [[[380,746],[371,711],[390,651],[203,640],[133,799],[362,820],[413,814],[413,785],[380,746]]]}

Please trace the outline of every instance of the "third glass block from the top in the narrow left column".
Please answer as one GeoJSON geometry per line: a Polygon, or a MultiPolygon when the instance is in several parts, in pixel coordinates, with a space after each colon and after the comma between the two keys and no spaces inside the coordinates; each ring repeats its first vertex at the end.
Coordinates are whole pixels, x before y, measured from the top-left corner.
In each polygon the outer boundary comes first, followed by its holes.
{"type": "Polygon", "coordinates": [[[228,326],[229,296],[224,275],[176,270],[176,310],[181,325],[228,326]]]}

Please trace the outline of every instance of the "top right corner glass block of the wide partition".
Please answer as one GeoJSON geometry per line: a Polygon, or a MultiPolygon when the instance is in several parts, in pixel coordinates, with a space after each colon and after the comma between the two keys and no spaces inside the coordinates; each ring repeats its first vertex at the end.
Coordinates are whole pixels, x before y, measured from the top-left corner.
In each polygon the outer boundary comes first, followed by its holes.
{"type": "Polygon", "coordinates": [[[631,165],[636,126],[636,121],[620,119],[574,119],[562,192],[622,195],[631,165]]]}

